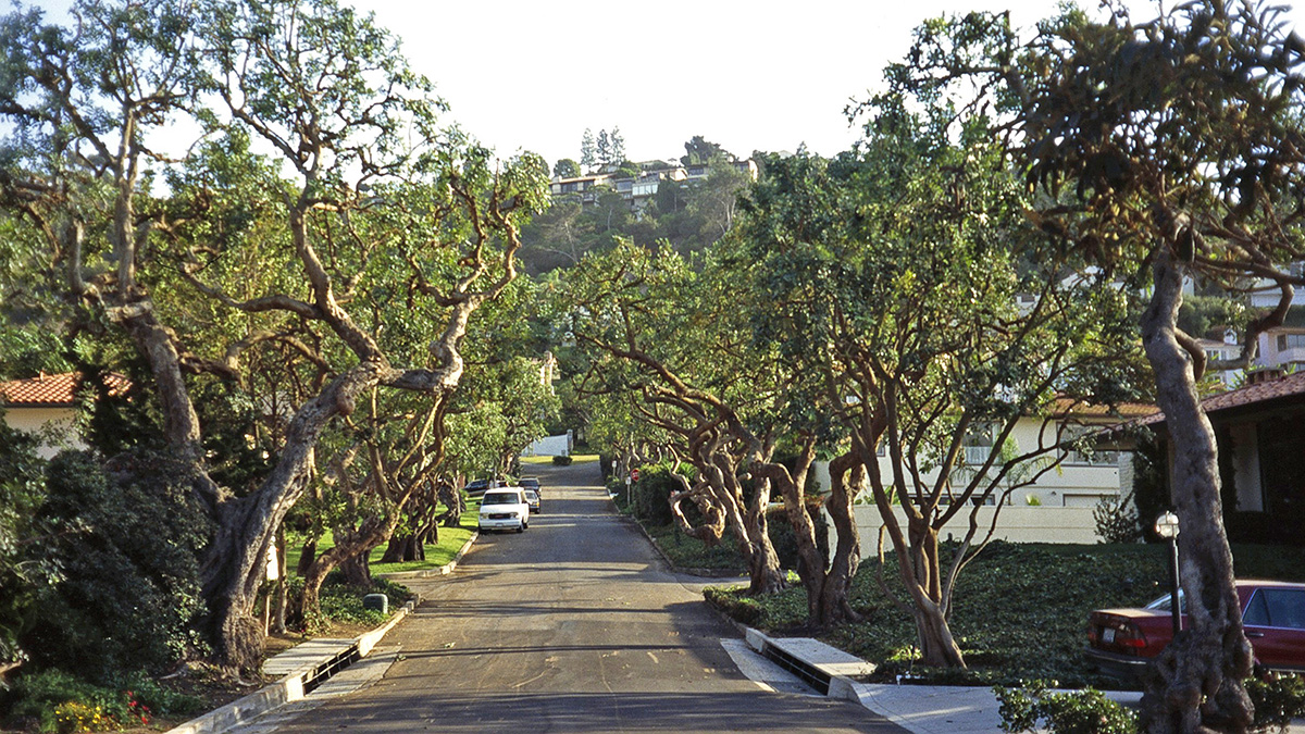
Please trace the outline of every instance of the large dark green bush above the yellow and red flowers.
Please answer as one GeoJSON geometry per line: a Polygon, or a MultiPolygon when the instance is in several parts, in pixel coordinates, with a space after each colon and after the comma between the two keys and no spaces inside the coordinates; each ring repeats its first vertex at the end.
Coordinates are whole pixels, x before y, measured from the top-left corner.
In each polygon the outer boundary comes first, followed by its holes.
{"type": "Polygon", "coordinates": [[[167,457],[123,455],[108,468],[84,452],[51,461],[39,517],[67,528],[46,552],[63,580],[39,592],[23,635],[38,667],[106,682],[159,670],[198,646],[198,558],[209,535],[185,471],[167,457]]]}

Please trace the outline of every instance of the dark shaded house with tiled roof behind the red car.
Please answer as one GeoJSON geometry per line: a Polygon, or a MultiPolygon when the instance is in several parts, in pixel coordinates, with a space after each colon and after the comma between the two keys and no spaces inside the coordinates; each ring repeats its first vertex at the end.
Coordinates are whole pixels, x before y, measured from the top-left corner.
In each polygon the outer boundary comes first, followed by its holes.
{"type": "MultiPolygon", "coordinates": [[[[1255,377],[1202,401],[1219,444],[1228,539],[1305,545],[1305,372],[1255,377]]],[[[1150,426],[1161,445],[1164,414],[1150,426]]]]}

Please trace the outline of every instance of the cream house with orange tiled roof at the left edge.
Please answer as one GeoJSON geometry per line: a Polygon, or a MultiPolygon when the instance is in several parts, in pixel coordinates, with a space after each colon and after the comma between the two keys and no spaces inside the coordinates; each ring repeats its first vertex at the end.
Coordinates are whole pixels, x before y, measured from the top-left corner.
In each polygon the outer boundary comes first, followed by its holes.
{"type": "MultiPolygon", "coordinates": [[[[26,380],[0,383],[0,404],[10,428],[42,436],[39,453],[44,458],[65,448],[84,448],[76,432],[76,392],[82,377],[77,372],[39,375],[26,380]]],[[[127,377],[108,376],[112,394],[127,392],[127,377]]]]}

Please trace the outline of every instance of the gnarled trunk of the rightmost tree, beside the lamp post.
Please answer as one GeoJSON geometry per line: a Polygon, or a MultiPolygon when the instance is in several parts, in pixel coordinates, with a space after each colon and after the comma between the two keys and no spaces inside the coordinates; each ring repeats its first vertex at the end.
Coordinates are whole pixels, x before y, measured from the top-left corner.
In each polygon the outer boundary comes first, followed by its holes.
{"type": "Polygon", "coordinates": [[[1161,653],[1147,679],[1142,721],[1152,734],[1244,733],[1253,718],[1244,683],[1253,658],[1224,533],[1215,435],[1197,394],[1191,357],[1178,342],[1181,304],[1182,268],[1160,248],[1142,340],[1173,447],[1171,492],[1181,524],[1188,628],[1161,653]]]}

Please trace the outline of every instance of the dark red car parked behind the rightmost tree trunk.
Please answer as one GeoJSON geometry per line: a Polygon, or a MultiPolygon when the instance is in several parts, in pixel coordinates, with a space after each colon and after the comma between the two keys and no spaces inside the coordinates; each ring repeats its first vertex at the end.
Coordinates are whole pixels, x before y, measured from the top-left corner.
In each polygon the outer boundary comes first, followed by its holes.
{"type": "MultiPolygon", "coordinates": [[[[1305,671],[1305,584],[1237,581],[1237,598],[1255,665],[1305,671]]],[[[1169,594],[1165,594],[1143,609],[1094,611],[1088,618],[1086,652],[1103,673],[1134,678],[1172,639],[1169,594]]]]}

